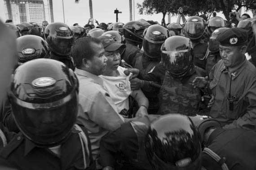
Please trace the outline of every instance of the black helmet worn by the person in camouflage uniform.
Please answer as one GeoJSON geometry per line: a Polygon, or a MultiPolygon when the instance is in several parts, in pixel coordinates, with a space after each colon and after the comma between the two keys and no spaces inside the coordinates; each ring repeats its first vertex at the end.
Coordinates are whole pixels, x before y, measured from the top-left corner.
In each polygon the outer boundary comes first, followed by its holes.
{"type": "Polygon", "coordinates": [[[161,48],[162,64],[173,77],[186,75],[193,66],[193,49],[189,38],[175,35],[169,37],[161,48]]]}

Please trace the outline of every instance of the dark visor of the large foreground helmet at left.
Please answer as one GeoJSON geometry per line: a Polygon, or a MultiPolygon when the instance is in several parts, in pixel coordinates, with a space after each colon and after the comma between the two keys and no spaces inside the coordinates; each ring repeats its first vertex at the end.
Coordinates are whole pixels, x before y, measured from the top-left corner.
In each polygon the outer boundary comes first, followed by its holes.
{"type": "Polygon", "coordinates": [[[38,146],[60,144],[71,131],[78,108],[76,95],[70,94],[66,100],[45,104],[13,101],[15,122],[21,132],[38,146]]]}

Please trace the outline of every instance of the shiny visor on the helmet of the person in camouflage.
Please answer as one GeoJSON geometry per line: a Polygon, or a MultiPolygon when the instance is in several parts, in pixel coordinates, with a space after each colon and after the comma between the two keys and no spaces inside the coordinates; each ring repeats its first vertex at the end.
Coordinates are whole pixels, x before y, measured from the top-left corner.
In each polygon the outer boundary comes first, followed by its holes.
{"type": "Polygon", "coordinates": [[[192,60],[189,50],[162,51],[161,57],[164,68],[172,73],[185,72],[192,60]]]}

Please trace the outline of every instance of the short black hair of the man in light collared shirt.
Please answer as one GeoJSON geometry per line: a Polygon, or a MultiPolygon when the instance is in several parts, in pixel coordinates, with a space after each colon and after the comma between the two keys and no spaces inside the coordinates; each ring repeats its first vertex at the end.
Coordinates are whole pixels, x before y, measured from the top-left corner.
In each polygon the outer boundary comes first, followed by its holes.
{"type": "Polygon", "coordinates": [[[101,40],[98,38],[83,37],[77,39],[71,47],[71,56],[73,57],[75,66],[77,68],[80,68],[82,66],[84,58],[93,58],[93,55],[95,54],[93,43],[102,44],[101,40]]]}

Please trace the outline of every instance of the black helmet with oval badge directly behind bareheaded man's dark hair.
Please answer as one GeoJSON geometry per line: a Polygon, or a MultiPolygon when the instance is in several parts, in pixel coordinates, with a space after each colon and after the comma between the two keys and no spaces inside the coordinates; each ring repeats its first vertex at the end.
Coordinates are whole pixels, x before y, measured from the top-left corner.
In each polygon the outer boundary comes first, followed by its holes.
{"type": "Polygon", "coordinates": [[[58,56],[69,56],[74,42],[74,33],[62,22],[53,22],[46,26],[44,39],[49,44],[51,52],[58,56]]]}

